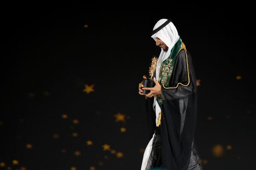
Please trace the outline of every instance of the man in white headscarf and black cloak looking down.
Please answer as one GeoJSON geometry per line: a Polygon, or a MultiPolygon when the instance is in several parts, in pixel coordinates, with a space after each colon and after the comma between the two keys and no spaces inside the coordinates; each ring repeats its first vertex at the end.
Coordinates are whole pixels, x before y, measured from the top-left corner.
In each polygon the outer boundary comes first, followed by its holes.
{"type": "Polygon", "coordinates": [[[141,170],[202,170],[194,146],[197,88],[192,59],[171,20],[159,20],[151,37],[161,52],[154,71],[155,86],[139,84],[139,94],[147,97],[149,134],[141,170]]]}

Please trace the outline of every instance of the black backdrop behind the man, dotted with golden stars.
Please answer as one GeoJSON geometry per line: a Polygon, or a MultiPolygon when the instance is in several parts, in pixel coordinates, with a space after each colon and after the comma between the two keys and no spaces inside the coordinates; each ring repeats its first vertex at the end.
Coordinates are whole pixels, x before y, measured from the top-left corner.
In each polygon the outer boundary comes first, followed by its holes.
{"type": "Polygon", "coordinates": [[[140,170],[148,134],[138,84],[160,53],[150,33],[162,18],[173,20],[201,82],[195,144],[204,170],[254,169],[250,1],[148,10],[2,8],[0,170],[140,170]],[[94,91],[85,93],[85,84],[94,84],[94,91]],[[116,122],[117,113],[125,121],[116,122]],[[104,144],[123,157],[103,150],[104,144]]]}

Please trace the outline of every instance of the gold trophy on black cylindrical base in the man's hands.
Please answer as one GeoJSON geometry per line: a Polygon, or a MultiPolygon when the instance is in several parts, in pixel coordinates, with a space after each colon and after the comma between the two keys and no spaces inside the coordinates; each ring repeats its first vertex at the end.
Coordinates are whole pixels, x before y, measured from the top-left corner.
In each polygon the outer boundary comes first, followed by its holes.
{"type": "MultiPolygon", "coordinates": [[[[152,79],[153,75],[154,75],[154,71],[157,67],[157,58],[153,57],[151,62],[151,66],[149,67],[149,77],[148,78],[143,78],[143,88],[153,88],[155,86],[155,82],[152,79]]],[[[150,90],[143,90],[144,94],[148,94],[150,92],[150,90]]]]}

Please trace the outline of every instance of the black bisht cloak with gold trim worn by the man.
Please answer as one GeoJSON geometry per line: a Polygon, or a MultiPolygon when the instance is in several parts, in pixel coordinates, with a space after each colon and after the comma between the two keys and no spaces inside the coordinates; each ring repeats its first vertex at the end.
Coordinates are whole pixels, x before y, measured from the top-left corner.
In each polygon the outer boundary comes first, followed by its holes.
{"type": "MultiPolygon", "coordinates": [[[[161,88],[163,100],[160,125],[161,167],[168,170],[188,170],[197,118],[197,88],[192,59],[185,49],[177,54],[169,80],[169,87],[176,86],[177,88],[166,89],[163,86],[161,88]],[[180,108],[180,101],[183,101],[184,106],[186,103],[186,107],[180,108]]],[[[154,97],[145,99],[149,140],[156,130],[153,102],[154,97]]]]}

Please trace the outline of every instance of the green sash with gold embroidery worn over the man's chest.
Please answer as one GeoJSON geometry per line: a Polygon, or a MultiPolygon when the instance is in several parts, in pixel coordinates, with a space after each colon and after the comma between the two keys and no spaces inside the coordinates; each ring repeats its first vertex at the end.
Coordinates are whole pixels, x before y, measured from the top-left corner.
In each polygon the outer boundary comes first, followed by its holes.
{"type": "MultiPolygon", "coordinates": [[[[182,40],[181,40],[181,38],[179,38],[179,40],[173,46],[170,56],[162,62],[161,67],[160,67],[160,73],[159,73],[159,81],[158,81],[160,85],[169,87],[169,80],[172,76],[173,66],[175,64],[175,59],[177,57],[177,54],[180,51],[181,43],[182,43],[182,40]]],[[[162,110],[163,101],[162,101],[161,94],[157,95],[157,103],[162,110]]]]}

